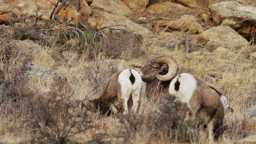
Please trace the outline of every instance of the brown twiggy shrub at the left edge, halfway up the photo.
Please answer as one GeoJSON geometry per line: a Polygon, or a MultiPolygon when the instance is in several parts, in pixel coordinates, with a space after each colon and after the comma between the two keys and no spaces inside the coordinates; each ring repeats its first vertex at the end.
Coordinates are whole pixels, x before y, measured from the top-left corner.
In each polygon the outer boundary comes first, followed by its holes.
{"type": "Polygon", "coordinates": [[[10,101],[16,102],[22,100],[26,96],[33,95],[31,90],[26,88],[26,74],[28,64],[32,62],[32,57],[25,57],[22,62],[16,61],[19,52],[15,51],[15,43],[8,40],[6,37],[0,38],[0,61],[4,72],[2,74],[8,77],[2,85],[0,104],[5,104],[10,101]]]}

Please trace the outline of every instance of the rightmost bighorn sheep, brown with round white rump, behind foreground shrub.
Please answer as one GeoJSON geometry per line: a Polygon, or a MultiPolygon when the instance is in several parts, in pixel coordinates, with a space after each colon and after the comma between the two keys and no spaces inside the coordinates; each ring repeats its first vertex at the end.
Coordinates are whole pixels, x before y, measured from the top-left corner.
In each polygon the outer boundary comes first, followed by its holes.
{"type": "Polygon", "coordinates": [[[190,118],[199,124],[206,124],[209,142],[213,142],[228,128],[228,125],[223,126],[225,112],[218,92],[192,74],[176,76],[170,83],[169,94],[188,104],[192,113],[190,118]]]}

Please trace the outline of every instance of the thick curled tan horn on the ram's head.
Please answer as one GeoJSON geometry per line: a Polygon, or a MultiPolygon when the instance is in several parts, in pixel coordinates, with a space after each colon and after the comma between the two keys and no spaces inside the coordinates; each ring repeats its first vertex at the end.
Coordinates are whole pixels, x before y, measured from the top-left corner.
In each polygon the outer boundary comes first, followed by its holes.
{"type": "Polygon", "coordinates": [[[155,62],[158,64],[166,64],[169,68],[169,71],[166,75],[160,75],[157,72],[155,73],[156,78],[161,81],[168,81],[174,78],[178,72],[178,63],[176,60],[169,55],[160,55],[156,58],[155,62]]]}

